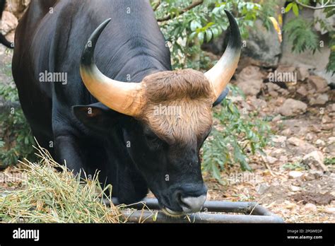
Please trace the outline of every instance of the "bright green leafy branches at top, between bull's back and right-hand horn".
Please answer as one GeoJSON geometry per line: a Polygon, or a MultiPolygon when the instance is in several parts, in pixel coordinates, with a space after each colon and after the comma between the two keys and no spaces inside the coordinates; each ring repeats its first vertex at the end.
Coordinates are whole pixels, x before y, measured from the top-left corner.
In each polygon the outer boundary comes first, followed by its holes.
{"type": "MultiPolygon", "coordinates": [[[[207,69],[201,45],[219,37],[227,30],[229,23],[224,10],[234,13],[240,26],[242,37],[247,37],[247,28],[252,27],[261,13],[261,6],[245,0],[205,0],[203,4],[191,8],[185,13],[181,10],[189,7],[192,0],[161,1],[155,13],[160,20],[166,16],[172,18],[160,22],[160,28],[171,49],[174,69],[192,67],[207,69]]],[[[152,1],[153,6],[157,1],[152,1]]]]}

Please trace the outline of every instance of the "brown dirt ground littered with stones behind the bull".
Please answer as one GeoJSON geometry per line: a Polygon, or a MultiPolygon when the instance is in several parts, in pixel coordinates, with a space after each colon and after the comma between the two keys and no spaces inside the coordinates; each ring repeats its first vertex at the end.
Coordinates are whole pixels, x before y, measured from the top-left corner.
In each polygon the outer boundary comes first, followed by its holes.
{"type": "MultiPolygon", "coordinates": [[[[11,53],[6,54],[0,47],[0,81],[11,81],[10,61],[11,53]]],[[[254,172],[241,172],[238,166],[227,167],[222,173],[225,184],[205,173],[208,200],[257,201],[288,223],[335,223],[334,164],[326,165],[324,170],[318,163],[302,160],[313,151],[321,152],[322,160],[334,160],[334,90],[324,92],[328,100],[323,105],[310,105],[308,96],[297,93],[301,86],[308,86],[307,82],[276,88],[276,93],[271,93],[274,90],[264,83],[257,95],[247,96],[246,102],[233,98],[241,110],[259,110],[260,117],[271,118],[274,143],[266,147],[266,156],[249,157],[254,172]],[[287,98],[305,101],[307,109],[303,114],[278,114],[278,108],[287,98]]],[[[0,174],[0,194],[20,187],[16,179],[20,173],[13,168],[0,174]]]]}

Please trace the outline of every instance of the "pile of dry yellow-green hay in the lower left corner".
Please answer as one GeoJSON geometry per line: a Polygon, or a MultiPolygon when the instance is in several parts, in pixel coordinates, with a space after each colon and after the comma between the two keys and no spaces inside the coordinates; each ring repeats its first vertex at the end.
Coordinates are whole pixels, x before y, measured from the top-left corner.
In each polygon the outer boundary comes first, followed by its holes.
{"type": "MultiPolygon", "coordinates": [[[[0,223],[119,223],[124,221],[119,207],[106,206],[98,175],[83,180],[56,163],[49,153],[38,148],[41,163],[27,166],[23,189],[0,197],[0,223]],[[61,169],[61,172],[55,170],[61,169]]],[[[110,192],[111,193],[111,192],[110,192]]]]}

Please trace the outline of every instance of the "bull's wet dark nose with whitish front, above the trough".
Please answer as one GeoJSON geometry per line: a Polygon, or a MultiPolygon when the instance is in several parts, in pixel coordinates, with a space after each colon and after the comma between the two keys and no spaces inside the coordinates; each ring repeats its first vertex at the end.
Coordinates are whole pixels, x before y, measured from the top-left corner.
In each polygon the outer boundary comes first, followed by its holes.
{"type": "Polygon", "coordinates": [[[205,185],[192,185],[176,192],[175,199],[184,213],[196,213],[201,211],[204,206],[206,195],[207,187],[205,185]]]}

